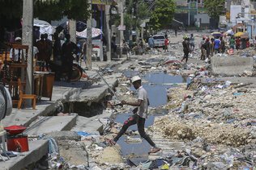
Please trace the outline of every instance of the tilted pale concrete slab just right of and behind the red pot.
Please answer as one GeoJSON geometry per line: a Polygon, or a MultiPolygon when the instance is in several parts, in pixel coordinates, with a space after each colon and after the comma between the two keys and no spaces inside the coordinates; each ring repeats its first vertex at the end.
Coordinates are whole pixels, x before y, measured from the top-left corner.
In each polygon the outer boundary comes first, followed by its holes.
{"type": "Polygon", "coordinates": [[[42,135],[53,131],[69,131],[76,123],[77,114],[43,117],[25,131],[28,135],[42,135]]]}

